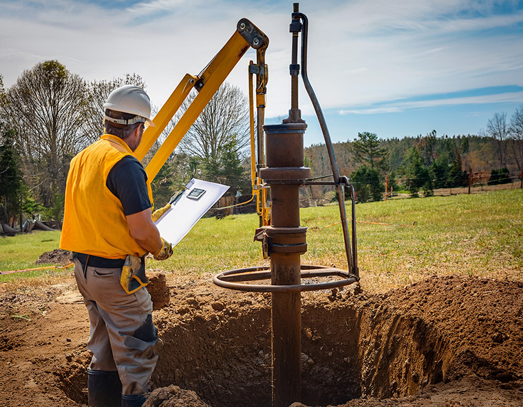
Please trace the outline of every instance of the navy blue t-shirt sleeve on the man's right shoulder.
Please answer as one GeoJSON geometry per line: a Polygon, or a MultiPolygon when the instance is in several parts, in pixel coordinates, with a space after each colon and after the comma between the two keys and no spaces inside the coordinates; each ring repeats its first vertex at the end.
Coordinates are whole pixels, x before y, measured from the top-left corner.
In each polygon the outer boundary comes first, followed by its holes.
{"type": "Polygon", "coordinates": [[[125,156],[111,168],[106,185],[122,202],[125,216],[153,206],[147,194],[147,173],[133,156],[125,156]]]}

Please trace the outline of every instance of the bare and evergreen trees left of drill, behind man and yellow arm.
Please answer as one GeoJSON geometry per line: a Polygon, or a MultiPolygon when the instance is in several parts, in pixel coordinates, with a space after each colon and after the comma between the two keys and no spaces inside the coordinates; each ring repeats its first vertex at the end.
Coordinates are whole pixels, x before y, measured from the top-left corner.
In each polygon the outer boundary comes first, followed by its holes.
{"type": "MultiPolygon", "coordinates": [[[[36,64],[8,88],[0,74],[1,223],[12,225],[19,219],[21,223],[35,213],[61,220],[70,161],[103,134],[103,103],[109,93],[129,84],[147,90],[138,74],[85,81],[58,61],[36,64]]],[[[189,95],[144,165],[194,97],[189,95]]],[[[155,110],[158,107],[153,106],[155,110]]],[[[233,193],[247,192],[250,183],[242,160],[248,136],[246,98],[237,87],[224,83],[151,182],[157,203],[167,202],[193,176],[224,182],[233,193]]]]}

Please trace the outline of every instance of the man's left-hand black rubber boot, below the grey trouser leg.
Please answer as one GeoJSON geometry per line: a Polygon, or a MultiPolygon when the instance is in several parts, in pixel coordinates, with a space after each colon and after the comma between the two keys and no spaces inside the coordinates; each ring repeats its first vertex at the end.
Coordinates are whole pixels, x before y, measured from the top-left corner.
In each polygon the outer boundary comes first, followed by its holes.
{"type": "Polygon", "coordinates": [[[92,371],[87,369],[87,394],[89,407],[122,406],[122,383],[118,372],[92,371]]]}

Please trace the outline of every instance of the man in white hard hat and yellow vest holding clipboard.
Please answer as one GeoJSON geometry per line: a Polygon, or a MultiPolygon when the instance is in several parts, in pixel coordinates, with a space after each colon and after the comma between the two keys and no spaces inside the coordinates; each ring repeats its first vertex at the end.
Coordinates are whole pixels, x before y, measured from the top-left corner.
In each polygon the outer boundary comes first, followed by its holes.
{"type": "Polygon", "coordinates": [[[151,220],[151,186],[133,154],[152,125],[149,96],[126,85],[103,107],[105,134],[71,161],[60,247],[73,253],[89,312],[89,406],[135,407],[158,359],[144,258],[166,260],[173,251],[151,220]]]}

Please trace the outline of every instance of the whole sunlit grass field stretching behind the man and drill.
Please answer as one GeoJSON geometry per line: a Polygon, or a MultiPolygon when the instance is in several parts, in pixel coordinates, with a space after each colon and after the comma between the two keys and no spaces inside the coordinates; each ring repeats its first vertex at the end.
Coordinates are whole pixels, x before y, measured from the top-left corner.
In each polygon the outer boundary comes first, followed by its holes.
{"type": "MultiPolygon", "coordinates": [[[[348,213],[350,210],[348,208],[348,213]]],[[[387,200],[356,205],[359,267],[364,289],[383,292],[429,275],[465,273],[523,279],[523,191],[387,200]],[[382,222],[390,225],[375,225],[382,222]],[[400,226],[413,225],[416,226],[400,226]]],[[[337,206],[301,209],[308,227],[307,264],[347,267],[337,206]]],[[[200,220],[165,262],[149,269],[211,273],[268,264],[253,242],[255,214],[200,220]]],[[[36,267],[44,251],[58,247],[59,232],[0,238],[0,271],[36,267]]],[[[0,275],[1,281],[67,271],[0,275]]]]}

